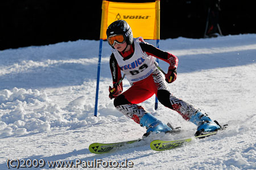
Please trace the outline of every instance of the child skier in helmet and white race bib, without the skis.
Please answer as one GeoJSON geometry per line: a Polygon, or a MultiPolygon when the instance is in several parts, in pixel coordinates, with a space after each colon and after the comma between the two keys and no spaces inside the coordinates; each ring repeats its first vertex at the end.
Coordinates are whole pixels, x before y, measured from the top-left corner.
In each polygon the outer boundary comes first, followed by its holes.
{"type": "Polygon", "coordinates": [[[178,59],[171,53],[164,52],[144,42],[143,38],[133,38],[133,32],[125,20],[110,24],[106,31],[109,45],[114,48],[110,56],[110,70],[113,77],[113,88],[109,86],[109,97],[114,98],[118,111],[133,119],[141,126],[146,126],[146,134],[151,132],[168,132],[172,128],[165,125],[142,106],[137,105],[156,94],[160,103],[177,111],[185,120],[197,126],[196,136],[201,132],[220,129],[207,115],[189,103],[173,96],[167,83],[176,80],[178,59]],[[155,65],[155,59],[170,64],[167,74],[163,74],[155,65]],[[131,87],[122,93],[121,71],[126,74],[131,87]]]}

